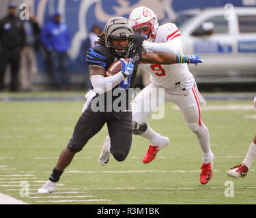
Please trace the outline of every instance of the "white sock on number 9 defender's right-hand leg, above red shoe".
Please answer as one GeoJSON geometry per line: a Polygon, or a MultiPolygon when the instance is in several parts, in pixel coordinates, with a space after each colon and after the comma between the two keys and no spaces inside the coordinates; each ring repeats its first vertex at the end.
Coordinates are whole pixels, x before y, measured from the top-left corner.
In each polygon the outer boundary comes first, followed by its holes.
{"type": "Polygon", "coordinates": [[[210,163],[212,161],[212,151],[210,148],[210,136],[208,128],[202,123],[202,125],[193,131],[197,135],[197,139],[203,153],[203,163],[210,163]]]}

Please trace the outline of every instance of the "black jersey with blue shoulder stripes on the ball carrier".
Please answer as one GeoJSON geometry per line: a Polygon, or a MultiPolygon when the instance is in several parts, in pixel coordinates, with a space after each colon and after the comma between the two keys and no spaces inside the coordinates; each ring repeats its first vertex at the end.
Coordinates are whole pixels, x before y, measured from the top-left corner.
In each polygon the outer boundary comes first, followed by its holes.
{"type": "MultiPolygon", "coordinates": [[[[144,40],[146,40],[145,35],[134,33],[132,50],[130,50],[128,55],[125,56],[127,58],[132,59],[132,64],[134,65],[133,72],[132,74],[130,74],[130,76],[128,76],[127,78],[124,78],[124,80],[122,80],[119,84],[117,84],[113,89],[108,91],[108,93],[104,93],[104,97],[106,99],[106,97],[109,96],[109,92],[111,92],[111,96],[112,96],[111,104],[112,104],[115,101],[115,99],[119,97],[119,95],[117,96],[113,95],[113,93],[115,93],[115,89],[126,90],[126,108],[122,108],[124,110],[130,110],[131,99],[129,99],[129,97],[132,97],[132,96],[128,95],[128,88],[134,88],[135,77],[136,77],[137,69],[139,66],[139,61],[141,60],[141,57],[143,55],[143,49],[141,45],[144,40]]],[[[86,61],[87,63],[89,63],[89,65],[103,67],[106,71],[114,61],[122,57],[124,56],[115,55],[108,48],[106,48],[106,46],[96,45],[94,46],[94,48],[90,48],[87,51],[86,61]]],[[[109,104],[109,102],[105,102],[105,103],[109,104]]]]}

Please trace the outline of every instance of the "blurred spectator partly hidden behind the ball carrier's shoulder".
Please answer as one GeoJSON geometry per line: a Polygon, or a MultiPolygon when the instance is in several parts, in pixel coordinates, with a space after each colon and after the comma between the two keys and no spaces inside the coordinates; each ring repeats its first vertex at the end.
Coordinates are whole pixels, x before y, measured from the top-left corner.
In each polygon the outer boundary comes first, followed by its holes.
{"type": "Polygon", "coordinates": [[[91,89],[91,81],[89,79],[89,65],[85,62],[86,57],[86,51],[89,48],[94,47],[94,42],[98,40],[98,34],[102,32],[102,29],[99,25],[94,25],[91,27],[91,32],[89,33],[88,37],[82,42],[81,46],[81,53],[83,54],[81,57],[83,57],[83,63],[85,63],[85,71],[86,71],[86,77],[85,77],[85,87],[87,89],[91,89]]]}

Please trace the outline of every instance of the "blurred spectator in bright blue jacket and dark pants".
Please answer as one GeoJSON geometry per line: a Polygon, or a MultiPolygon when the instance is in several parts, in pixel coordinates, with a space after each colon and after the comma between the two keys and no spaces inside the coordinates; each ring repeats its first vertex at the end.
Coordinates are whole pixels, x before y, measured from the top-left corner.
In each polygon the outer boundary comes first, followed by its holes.
{"type": "Polygon", "coordinates": [[[68,74],[68,48],[70,36],[66,23],[61,22],[59,12],[46,22],[41,33],[42,44],[46,48],[48,70],[55,79],[61,91],[69,89],[70,78],[68,74]]]}

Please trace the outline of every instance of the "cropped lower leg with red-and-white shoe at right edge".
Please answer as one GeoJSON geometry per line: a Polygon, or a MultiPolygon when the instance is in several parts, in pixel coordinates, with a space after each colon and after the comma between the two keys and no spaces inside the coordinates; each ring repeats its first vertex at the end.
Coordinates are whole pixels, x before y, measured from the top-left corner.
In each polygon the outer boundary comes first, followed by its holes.
{"type": "Polygon", "coordinates": [[[242,161],[240,165],[234,166],[233,168],[231,168],[227,172],[227,175],[233,178],[245,177],[255,158],[256,158],[256,135],[253,138],[253,142],[251,142],[251,145],[247,151],[246,157],[244,158],[244,161],[242,161]]]}

